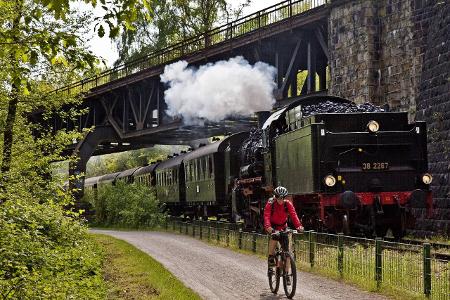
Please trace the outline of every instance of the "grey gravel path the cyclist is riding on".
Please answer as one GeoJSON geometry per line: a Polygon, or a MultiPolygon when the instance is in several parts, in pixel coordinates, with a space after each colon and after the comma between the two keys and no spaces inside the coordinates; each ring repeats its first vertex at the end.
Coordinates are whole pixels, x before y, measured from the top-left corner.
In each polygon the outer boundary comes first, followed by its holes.
{"type": "MultiPolygon", "coordinates": [[[[253,255],[163,232],[92,230],[127,241],[152,256],[203,299],[286,299],[269,290],[267,262],[253,255]]],[[[298,272],[294,299],[386,299],[334,280],[298,272]]]]}

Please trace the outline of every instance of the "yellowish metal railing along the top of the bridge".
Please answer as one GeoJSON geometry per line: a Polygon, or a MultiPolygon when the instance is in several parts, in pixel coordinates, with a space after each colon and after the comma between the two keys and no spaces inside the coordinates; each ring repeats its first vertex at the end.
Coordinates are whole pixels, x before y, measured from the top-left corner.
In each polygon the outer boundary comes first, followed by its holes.
{"type": "Polygon", "coordinates": [[[75,96],[93,88],[138,73],[150,67],[166,64],[199,50],[241,37],[255,30],[286,20],[292,16],[305,13],[329,3],[330,0],[288,0],[260,10],[251,15],[232,21],[226,25],[214,28],[203,34],[188,38],[162,50],[145,55],[139,59],[109,69],[95,76],[72,83],[55,90],[75,96]]]}

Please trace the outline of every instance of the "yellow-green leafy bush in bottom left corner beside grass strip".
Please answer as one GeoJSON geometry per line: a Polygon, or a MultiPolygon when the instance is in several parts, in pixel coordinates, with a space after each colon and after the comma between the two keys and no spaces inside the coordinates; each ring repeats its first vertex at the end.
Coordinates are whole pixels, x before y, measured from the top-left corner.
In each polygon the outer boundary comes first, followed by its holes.
{"type": "Polygon", "coordinates": [[[103,254],[76,216],[53,202],[0,205],[2,299],[103,299],[103,254]]]}

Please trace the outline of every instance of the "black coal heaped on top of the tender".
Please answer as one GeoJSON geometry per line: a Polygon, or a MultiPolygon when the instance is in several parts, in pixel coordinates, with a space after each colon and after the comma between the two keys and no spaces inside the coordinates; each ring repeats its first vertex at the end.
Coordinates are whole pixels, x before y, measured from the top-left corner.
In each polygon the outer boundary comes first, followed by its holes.
{"type": "Polygon", "coordinates": [[[384,112],[385,110],[372,103],[337,103],[332,101],[320,102],[317,104],[302,106],[303,117],[308,117],[315,114],[326,113],[358,113],[358,112],[384,112]]]}

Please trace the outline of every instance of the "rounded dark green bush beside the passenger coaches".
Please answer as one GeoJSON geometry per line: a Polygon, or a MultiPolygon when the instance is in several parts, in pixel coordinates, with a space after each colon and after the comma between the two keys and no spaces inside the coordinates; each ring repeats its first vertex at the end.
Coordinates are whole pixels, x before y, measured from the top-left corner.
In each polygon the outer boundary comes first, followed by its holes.
{"type": "Polygon", "coordinates": [[[86,193],[85,201],[93,205],[97,225],[155,227],[166,219],[154,189],[143,184],[119,181],[115,186],[100,186],[96,194],[86,193]]]}

